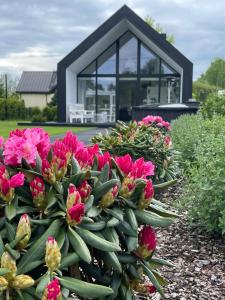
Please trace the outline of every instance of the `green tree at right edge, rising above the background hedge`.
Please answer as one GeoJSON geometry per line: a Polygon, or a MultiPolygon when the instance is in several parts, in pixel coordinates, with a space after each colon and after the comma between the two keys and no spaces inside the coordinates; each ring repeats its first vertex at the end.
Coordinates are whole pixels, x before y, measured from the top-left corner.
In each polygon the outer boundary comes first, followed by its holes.
{"type": "Polygon", "coordinates": [[[225,60],[215,58],[206,72],[201,75],[199,81],[225,89],[225,60]]]}

